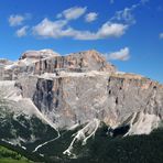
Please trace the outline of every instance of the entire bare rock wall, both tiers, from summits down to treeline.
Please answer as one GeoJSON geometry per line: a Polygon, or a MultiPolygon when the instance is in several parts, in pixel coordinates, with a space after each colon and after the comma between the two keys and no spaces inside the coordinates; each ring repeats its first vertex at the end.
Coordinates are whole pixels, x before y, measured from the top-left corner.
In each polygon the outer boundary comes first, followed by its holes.
{"type": "Polygon", "coordinates": [[[1,73],[1,79],[15,80],[22,98],[30,98],[57,129],[98,119],[111,128],[128,124],[127,134],[141,134],[163,119],[163,86],[118,73],[96,51],[66,56],[28,52],[1,73]]]}

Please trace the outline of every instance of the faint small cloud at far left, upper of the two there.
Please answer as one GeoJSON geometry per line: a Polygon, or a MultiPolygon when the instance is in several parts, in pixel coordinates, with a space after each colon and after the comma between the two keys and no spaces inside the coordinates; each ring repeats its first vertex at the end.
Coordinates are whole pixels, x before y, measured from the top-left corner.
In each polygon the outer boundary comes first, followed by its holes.
{"type": "Polygon", "coordinates": [[[11,14],[9,17],[9,24],[10,26],[18,26],[18,25],[22,25],[23,21],[28,20],[31,18],[30,13],[26,13],[24,15],[21,14],[11,14]]]}

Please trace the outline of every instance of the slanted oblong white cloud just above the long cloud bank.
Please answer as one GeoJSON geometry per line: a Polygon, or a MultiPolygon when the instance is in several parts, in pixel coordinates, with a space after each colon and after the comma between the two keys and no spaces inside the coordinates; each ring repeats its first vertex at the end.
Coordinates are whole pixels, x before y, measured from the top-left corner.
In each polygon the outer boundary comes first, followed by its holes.
{"type": "Polygon", "coordinates": [[[57,14],[57,18],[65,18],[66,20],[76,20],[86,12],[87,8],[74,7],[64,10],[62,13],[57,14]]]}

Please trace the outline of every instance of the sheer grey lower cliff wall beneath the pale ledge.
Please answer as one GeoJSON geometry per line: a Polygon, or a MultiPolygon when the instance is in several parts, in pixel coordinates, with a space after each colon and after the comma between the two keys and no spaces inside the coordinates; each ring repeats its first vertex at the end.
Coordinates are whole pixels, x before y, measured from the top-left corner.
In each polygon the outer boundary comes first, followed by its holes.
{"type": "Polygon", "coordinates": [[[163,87],[140,76],[91,72],[32,80],[26,82],[35,88],[29,94],[25,83],[23,96],[30,95],[59,128],[97,118],[112,128],[129,124],[138,128],[133,133],[149,133],[163,118],[163,87]]]}

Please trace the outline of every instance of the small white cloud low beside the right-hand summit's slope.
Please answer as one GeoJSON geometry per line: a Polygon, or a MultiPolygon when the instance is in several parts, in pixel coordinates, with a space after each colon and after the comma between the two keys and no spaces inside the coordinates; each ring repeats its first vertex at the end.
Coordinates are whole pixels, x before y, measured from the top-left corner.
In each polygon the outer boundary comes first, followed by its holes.
{"type": "Polygon", "coordinates": [[[121,48],[118,52],[110,53],[108,59],[128,61],[130,58],[129,47],[121,48]]]}

